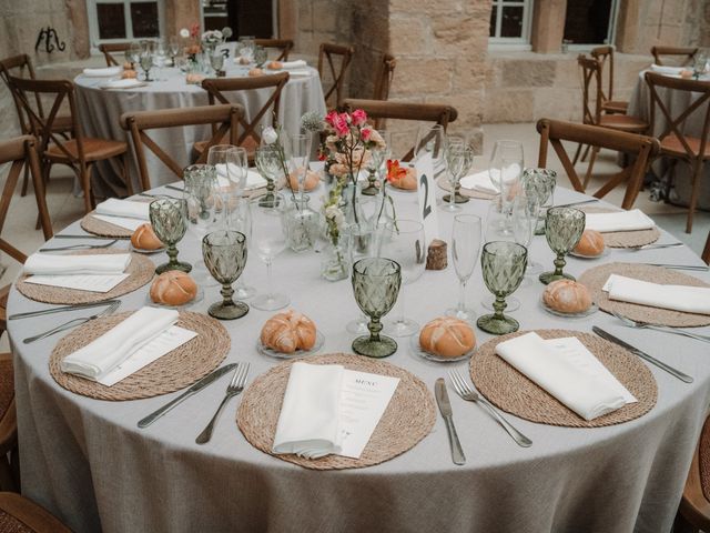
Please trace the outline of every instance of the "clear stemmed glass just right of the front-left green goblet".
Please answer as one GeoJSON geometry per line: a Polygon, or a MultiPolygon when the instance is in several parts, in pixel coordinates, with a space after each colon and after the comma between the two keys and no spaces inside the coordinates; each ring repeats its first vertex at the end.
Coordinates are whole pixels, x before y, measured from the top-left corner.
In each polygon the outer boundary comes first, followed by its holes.
{"type": "Polygon", "coordinates": [[[283,212],[285,201],[280,194],[273,205],[264,205],[261,198],[255,198],[251,202],[252,214],[252,250],[256,251],[258,258],[266,263],[267,292],[256,296],[252,301],[252,306],[263,311],[274,311],[285,308],[291,303],[291,299],[285,294],[275,293],[272,284],[272,263],[276,255],[286,249],[286,235],[283,230],[283,212]]]}

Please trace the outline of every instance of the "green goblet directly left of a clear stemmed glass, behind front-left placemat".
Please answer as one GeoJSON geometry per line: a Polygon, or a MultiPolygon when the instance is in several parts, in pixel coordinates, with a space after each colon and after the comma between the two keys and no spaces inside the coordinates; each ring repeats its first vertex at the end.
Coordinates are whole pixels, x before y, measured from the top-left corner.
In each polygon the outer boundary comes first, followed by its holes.
{"type": "Polygon", "coordinates": [[[248,305],[235,302],[234,283],[246,264],[246,237],[239,231],[215,231],[202,239],[204,264],[212,276],[222,284],[222,301],[210,305],[207,313],[220,320],[234,320],[248,313],[248,305]]]}

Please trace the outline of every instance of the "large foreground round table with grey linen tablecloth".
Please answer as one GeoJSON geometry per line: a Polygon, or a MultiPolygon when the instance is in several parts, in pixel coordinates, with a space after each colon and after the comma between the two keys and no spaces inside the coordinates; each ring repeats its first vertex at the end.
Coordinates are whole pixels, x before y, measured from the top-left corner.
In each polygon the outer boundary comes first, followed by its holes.
{"type": "MultiPolygon", "coordinates": [[[[312,198],[320,198],[325,187],[321,184],[312,198]]],[[[165,188],[153,192],[175,194],[165,188]]],[[[416,193],[393,190],[390,194],[400,219],[416,217],[416,193]]],[[[560,188],[555,192],[558,204],[585,198],[560,188]]],[[[438,202],[440,205],[440,198],[438,202]]],[[[463,205],[463,212],[483,218],[487,205],[488,201],[471,199],[463,205]]],[[[438,237],[450,241],[453,215],[443,210],[437,214],[438,237]]],[[[64,231],[81,232],[78,223],[64,231]]],[[[659,242],[673,241],[661,231],[659,242]]],[[[121,241],[113,248],[126,245],[121,241]]],[[[200,259],[197,240],[190,234],[179,250],[181,260],[194,263],[200,259]]],[[[545,266],[552,266],[554,254],[545,237],[534,238],[529,254],[545,266]]],[[[358,316],[359,310],[351,281],[329,282],[321,278],[321,257],[315,251],[286,250],[274,261],[274,285],[288,294],[293,309],[317,324],[325,336],[318,353],[353,353],[354,335],[347,333],[345,325],[358,316]]],[[[164,259],[159,254],[154,261],[164,259]]],[[[566,270],[579,276],[587,269],[611,261],[704,266],[683,247],[611,249],[597,260],[570,257],[566,270]]],[[[690,273],[710,282],[707,271],[690,273]]],[[[256,254],[248,257],[243,280],[265,289],[266,269],[256,254]]],[[[363,469],[317,471],[253,447],[235,422],[241,396],[223,412],[212,441],[204,445],[195,443],[223,398],[229,384],[226,376],[149,428],[139,429],[139,420],[179,392],[122,402],[78,395],[59,386],[50,374],[48,360],[58,336],[22,343],[24,338],[69,316],[88,313],[74,311],[49,314],[41,320],[12,320],[8,322],[8,331],[16,355],[22,493],[78,532],[667,533],[710,403],[708,344],[627,328],[601,311],[577,319],[549,314],[540,304],[542,289],[537,276],[528,276],[516,291],[520,308],[510,315],[520,322],[521,330],[589,333],[592,325],[599,325],[690,374],[694,381],[684,383],[649,365],[658,385],[656,405],[636,420],[604,428],[546,425],[508,414],[508,420],[532,440],[530,447],[521,447],[480,405],[458,398],[447,380],[458,436],[467,457],[465,465],[453,464],[445,423],[437,413],[433,431],[389,461],[363,469]]],[[[442,315],[458,299],[458,280],[450,258],[445,270],[427,270],[402,290],[406,293],[408,318],[423,325],[442,315]]],[[[123,296],[119,312],[145,305],[146,293],[148,286],[143,286],[123,296]]],[[[468,283],[467,301],[480,315],[486,312],[480,302],[489,296],[478,265],[468,283]]],[[[204,313],[219,300],[219,288],[205,286],[204,299],[189,310],[204,313]]],[[[10,293],[9,314],[45,308],[26,299],[14,288],[10,293]]],[[[261,328],[272,314],[251,309],[242,319],[222,322],[232,340],[225,363],[251,363],[247,392],[256,376],[282,362],[256,349],[261,328]]],[[[707,334],[710,328],[694,331],[707,334]]],[[[476,335],[479,344],[493,338],[478,329],[476,335]]],[[[437,363],[415,354],[409,339],[397,342],[398,350],[386,361],[412,372],[430,391],[449,369],[468,374],[467,361],[437,363]]]]}

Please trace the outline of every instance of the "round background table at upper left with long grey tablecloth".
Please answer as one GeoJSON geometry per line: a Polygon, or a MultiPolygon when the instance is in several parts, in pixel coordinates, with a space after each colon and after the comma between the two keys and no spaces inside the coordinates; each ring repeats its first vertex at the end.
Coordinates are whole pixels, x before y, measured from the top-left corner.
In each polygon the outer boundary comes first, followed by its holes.
{"type": "MultiPolygon", "coordinates": [[[[225,64],[226,77],[246,77],[250,68],[233,62],[225,64]]],[[[268,74],[264,74],[268,76],[268,74]]],[[[113,139],[131,142],[128,133],[121,128],[120,118],[125,112],[193,108],[207,105],[207,92],[202,86],[187,83],[186,74],[178,68],[164,68],[159,73],[158,69],[151,70],[153,79],[160,81],[146,82],[142,87],[128,89],[105,89],[109,78],[88,77],[79,74],[74,79],[77,87],[77,103],[79,117],[84,135],[101,139],[113,139]]],[[[143,79],[141,73],[140,79],[143,79]]],[[[246,120],[251,120],[266,103],[273,89],[253,89],[248,91],[235,91],[226,93],[234,103],[244,107],[246,120]]],[[[325,115],[325,100],[318,71],[306,67],[292,72],[288,82],[281,93],[278,108],[278,123],[284,131],[290,133],[301,132],[301,117],[307,111],[316,111],[325,115]]],[[[271,114],[266,113],[262,120],[271,124],[271,114]]],[[[197,141],[204,141],[211,137],[209,125],[190,128],[169,128],[149,132],[150,137],[181,167],[191,163],[193,145],[197,141]]],[[[170,183],[175,180],[175,174],[165,167],[152,152],[146,150],[146,163],[151,183],[170,183]]],[[[129,150],[129,174],[133,189],[140,191],[138,164],[133,149],[129,150]]],[[[95,192],[102,197],[124,195],[125,185],[121,178],[120,162],[115,160],[99,161],[94,182],[95,192]]]]}

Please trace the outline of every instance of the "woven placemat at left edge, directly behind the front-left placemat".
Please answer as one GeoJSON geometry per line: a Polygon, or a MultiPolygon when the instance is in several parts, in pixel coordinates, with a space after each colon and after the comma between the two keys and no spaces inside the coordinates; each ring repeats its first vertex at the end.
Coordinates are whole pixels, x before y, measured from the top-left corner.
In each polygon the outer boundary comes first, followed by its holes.
{"type": "MultiPolygon", "coordinates": [[[[74,252],[77,255],[101,254],[101,253],[126,253],[119,250],[82,250],[74,252]]],[[[125,269],[130,275],[121,283],[115,285],[109,292],[90,292],[79,291],[75,289],[65,289],[62,286],[38,285],[36,283],[27,283],[27,275],[22,275],[17,281],[17,288],[20,293],[30,300],[43,303],[62,303],[72,305],[75,303],[93,303],[110,300],[133,292],[134,290],[149,283],[155,274],[155,265],[145,255],[140,253],[131,253],[131,262],[125,269]]]]}

